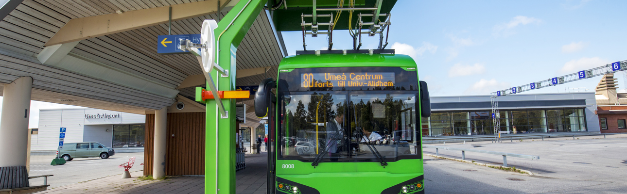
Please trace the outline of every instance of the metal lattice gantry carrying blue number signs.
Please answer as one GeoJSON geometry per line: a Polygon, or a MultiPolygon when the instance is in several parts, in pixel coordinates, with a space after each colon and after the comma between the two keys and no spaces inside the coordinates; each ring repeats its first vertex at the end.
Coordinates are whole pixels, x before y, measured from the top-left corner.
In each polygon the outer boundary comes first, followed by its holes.
{"type": "MultiPolygon", "coordinates": [[[[522,86],[516,86],[490,93],[490,101],[492,102],[492,121],[494,126],[494,142],[501,142],[500,135],[500,114],[498,113],[498,96],[507,96],[511,94],[517,94],[532,89],[540,89],[548,86],[556,86],[558,84],[569,83],[572,81],[578,81],[581,79],[593,78],[596,76],[602,76],[608,73],[616,73],[617,71],[627,70],[627,60],[617,61],[611,64],[605,64],[597,68],[578,71],[577,73],[567,74],[565,76],[559,76],[551,79],[545,79],[542,81],[532,82],[524,84],[522,86]]],[[[627,72],[624,72],[627,73],[627,72]]]]}

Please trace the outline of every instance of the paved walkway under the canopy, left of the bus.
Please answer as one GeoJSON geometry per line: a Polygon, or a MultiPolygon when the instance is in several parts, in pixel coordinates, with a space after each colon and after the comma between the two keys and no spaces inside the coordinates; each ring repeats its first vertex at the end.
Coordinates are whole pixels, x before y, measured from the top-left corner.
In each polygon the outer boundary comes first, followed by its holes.
{"type": "MultiPolygon", "coordinates": [[[[266,192],[266,152],[246,155],[246,169],[235,173],[236,193],[266,192]]],[[[131,170],[132,171],[132,170],[131,170]]],[[[41,191],[43,194],[73,193],[204,193],[203,176],[171,176],[166,180],[138,180],[143,171],[134,171],[134,178],[120,178],[122,175],[106,176],[95,180],[41,191]]],[[[38,194],[39,194],[38,193],[38,194]]]]}

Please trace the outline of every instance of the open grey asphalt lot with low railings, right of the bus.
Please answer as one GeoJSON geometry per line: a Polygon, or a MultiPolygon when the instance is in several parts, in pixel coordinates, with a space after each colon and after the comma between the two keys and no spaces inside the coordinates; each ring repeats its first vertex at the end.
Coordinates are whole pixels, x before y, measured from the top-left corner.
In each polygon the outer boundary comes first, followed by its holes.
{"type": "MultiPolygon", "coordinates": [[[[440,146],[442,146],[440,144],[440,146]]],[[[627,138],[447,144],[456,148],[538,155],[508,157],[524,175],[425,156],[426,193],[627,193],[627,138]]],[[[435,155],[435,148],[424,148],[435,155]]],[[[440,150],[461,158],[461,151],[440,150]]],[[[466,151],[466,160],[502,165],[500,155],[466,151]]]]}

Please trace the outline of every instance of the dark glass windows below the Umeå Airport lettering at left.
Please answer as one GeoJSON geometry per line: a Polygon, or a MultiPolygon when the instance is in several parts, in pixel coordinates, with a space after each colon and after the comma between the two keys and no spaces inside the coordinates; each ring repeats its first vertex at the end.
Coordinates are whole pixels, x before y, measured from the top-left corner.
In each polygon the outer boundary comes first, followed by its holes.
{"type": "Polygon", "coordinates": [[[113,148],[144,147],[145,125],[113,125],[113,148]]]}

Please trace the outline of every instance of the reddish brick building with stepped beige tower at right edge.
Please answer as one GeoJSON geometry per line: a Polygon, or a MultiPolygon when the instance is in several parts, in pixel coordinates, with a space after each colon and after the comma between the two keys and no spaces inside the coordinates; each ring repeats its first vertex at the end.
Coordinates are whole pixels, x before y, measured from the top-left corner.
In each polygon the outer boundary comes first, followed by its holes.
{"type": "Polygon", "coordinates": [[[616,78],[608,73],[596,86],[596,115],[601,133],[627,133],[627,93],[616,92],[616,78]]]}

